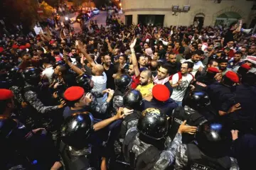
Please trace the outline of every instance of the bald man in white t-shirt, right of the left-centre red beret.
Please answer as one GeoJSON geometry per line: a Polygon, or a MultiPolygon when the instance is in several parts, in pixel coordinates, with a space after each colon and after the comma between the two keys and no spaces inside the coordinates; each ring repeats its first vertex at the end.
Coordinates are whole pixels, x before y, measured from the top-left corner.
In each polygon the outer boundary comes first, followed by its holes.
{"type": "MultiPolygon", "coordinates": [[[[104,67],[101,64],[95,64],[92,67],[92,91],[102,92],[107,89],[107,75],[104,72],[104,67]]],[[[104,103],[107,100],[107,94],[102,98],[97,98],[97,103],[104,103]]]]}

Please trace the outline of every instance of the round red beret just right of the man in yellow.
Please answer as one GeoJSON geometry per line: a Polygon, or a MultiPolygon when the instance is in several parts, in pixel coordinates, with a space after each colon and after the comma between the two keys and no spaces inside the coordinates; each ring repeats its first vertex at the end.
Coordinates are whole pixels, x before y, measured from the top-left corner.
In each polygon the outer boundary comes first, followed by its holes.
{"type": "Polygon", "coordinates": [[[152,94],[158,101],[167,101],[170,98],[170,91],[163,84],[154,85],[152,94]]]}

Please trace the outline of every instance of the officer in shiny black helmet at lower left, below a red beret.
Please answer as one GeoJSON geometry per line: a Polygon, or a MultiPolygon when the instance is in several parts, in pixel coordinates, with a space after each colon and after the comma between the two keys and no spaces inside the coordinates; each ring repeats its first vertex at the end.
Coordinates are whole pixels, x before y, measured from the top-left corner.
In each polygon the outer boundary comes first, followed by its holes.
{"type": "Polygon", "coordinates": [[[60,138],[64,143],[60,145],[60,153],[63,155],[66,169],[90,168],[92,146],[89,138],[93,132],[92,120],[90,113],[77,113],[63,123],[60,138]]]}

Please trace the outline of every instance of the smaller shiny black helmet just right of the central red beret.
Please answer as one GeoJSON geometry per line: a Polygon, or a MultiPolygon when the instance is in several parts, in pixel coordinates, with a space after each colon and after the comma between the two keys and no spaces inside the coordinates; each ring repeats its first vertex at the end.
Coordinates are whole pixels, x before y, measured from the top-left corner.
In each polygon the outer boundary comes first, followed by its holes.
{"type": "Polygon", "coordinates": [[[193,109],[204,108],[210,105],[210,98],[205,91],[191,91],[186,99],[186,105],[193,109]]]}

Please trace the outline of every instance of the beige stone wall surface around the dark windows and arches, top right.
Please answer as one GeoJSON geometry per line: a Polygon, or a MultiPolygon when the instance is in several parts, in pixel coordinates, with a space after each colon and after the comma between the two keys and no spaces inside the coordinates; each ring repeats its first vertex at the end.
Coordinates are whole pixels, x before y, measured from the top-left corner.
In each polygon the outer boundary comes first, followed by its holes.
{"type": "Polygon", "coordinates": [[[223,0],[220,4],[214,3],[214,0],[122,0],[124,15],[132,15],[133,23],[138,22],[139,14],[159,14],[165,15],[164,26],[189,26],[198,13],[205,16],[205,26],[214,26],[215,19],[220,14],[230,11],[238,13],[244,23],[250,22],[252,4],[253,1],[246,0],[223,0]],[[190,5],[191,8],[187,13],[174,15],[171,10],[174,5],[178,5],[179,8],[190,5]]]}

